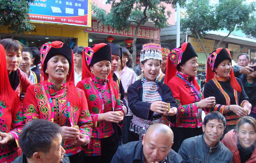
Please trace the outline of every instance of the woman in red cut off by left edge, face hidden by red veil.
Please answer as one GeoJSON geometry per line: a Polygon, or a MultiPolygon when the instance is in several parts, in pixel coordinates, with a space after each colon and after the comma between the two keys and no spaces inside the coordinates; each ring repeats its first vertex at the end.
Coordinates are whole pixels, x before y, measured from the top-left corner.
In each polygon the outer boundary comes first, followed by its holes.
{"type": "Polygon", "coordinates": [[[0,163],[18,156],[19,135],[24,125],[19,96],[12,89],[6,67],[6,53],[0,44],[0,163]]]}

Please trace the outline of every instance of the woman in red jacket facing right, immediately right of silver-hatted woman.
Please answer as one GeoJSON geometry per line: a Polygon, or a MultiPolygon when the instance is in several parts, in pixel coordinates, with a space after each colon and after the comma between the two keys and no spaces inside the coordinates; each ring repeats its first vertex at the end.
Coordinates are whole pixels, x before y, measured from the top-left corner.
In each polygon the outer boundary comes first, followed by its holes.
{"type": "Polygon", "coordinates": [[[195,80],[197,53],[190,43],[173,49],[167,59],[165,83],[170,87],[178,104],[177,121],[172,124],[174,144],[178,152],[182,141],[202,134],[202,108],[214,106],[215,98],[201,98],[200,87],[195,80]],[[178,71],[177,71],[178,70],[178,71]]]}

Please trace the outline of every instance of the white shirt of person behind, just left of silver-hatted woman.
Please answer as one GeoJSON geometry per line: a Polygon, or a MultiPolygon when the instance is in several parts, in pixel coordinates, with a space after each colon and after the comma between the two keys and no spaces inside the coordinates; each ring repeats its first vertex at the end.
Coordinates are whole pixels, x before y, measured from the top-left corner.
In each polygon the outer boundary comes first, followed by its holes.
{"type": "MultiPolygon", "coordinates": [[[[119,77],[119,79],[122,82],[122,87],[124,88],[124,100],[128,106],[128,99],[127,99],[127,89],[130,85],[132,85],[135,80],[136,80],[136,74],[134,72],[134,70],[129,69],[126,65],[124,65],[124,69],[122,69],[121,74],[119,74],[117,71],[114,72],[117,77],[119,77]]],[[[126,116],[132,116],[133,113],[130,110],[129,106],[128,106],[128,114],[126,116]]]]}

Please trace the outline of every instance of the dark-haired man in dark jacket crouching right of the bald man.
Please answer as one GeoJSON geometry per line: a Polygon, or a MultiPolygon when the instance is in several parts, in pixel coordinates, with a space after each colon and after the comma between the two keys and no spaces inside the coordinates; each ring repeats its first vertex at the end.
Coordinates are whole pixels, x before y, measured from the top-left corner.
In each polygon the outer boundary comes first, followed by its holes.
{"type": "Polygon", "coordinates": [[[232,153],[220,142],[225,126],[226,120],[218,111],[206,115],[204,134],[188,138],[180,146],[183,163],[233,163],[232,153]]]}

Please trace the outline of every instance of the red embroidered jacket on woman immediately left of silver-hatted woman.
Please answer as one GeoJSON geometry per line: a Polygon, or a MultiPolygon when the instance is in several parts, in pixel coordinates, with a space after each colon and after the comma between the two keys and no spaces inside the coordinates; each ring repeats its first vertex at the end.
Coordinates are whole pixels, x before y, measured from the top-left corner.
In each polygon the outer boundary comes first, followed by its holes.
{"type": "MultiPolygon", "coordinates": [[[[89,144],[89,149],[86,149],[85,151],[85,155],[87,156],[101,155],[100,139],[110,137],[114,133],[112,122],[107,122],[105,120],[98,122],[98,115],[108,111],[122,111],[122,106],[119,100],[119,87],[117,83],[113,81],[113,96],[111,96],[108,79],[105,84],[102,84],[101,82],[102,80],[99,78],[92,77],[86,78],[85,80],[78,82],[76,85],[85,93],[89,111],[93,120],[91,142],[89,144]]],[[[122,124],[119,124],[119,126],[121,125],[122,124]]]]}

